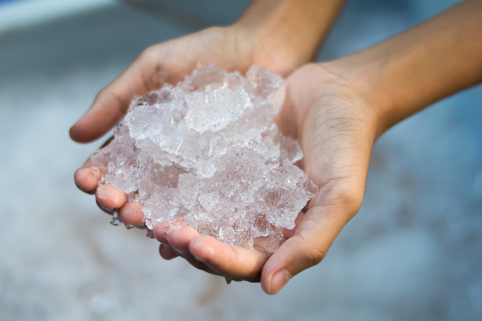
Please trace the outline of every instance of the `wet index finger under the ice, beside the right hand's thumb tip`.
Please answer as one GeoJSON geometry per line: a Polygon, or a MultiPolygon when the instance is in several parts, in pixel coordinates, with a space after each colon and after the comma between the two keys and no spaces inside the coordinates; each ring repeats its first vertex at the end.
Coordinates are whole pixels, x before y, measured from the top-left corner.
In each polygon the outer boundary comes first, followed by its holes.
{"type": "Polygon", "coordinates": [[[222,275],[240,277],[250,282],[259,282],[263,265],[270,253],[266,250],[268,238],[258,240],[254,249],[229,246],[212,236],[200,235],[189,246],[197,260],[222,275]]]}

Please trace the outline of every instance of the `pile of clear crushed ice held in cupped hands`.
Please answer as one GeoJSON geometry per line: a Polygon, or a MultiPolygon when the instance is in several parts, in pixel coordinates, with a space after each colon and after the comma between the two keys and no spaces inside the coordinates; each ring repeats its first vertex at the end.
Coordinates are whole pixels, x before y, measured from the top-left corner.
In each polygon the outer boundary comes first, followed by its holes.
{"type": "Polygon", "coordinates": [[[253,66],[242,76],[213,66],[177,87],[136,97],[114,139],[92,160],[113,184],[142,203],[148,228],[179,218],[199,233],[252,247],[277,241],[318,187],[293,163],[303,154],[273,115],[285,96],[275,73],[253,66]]]}

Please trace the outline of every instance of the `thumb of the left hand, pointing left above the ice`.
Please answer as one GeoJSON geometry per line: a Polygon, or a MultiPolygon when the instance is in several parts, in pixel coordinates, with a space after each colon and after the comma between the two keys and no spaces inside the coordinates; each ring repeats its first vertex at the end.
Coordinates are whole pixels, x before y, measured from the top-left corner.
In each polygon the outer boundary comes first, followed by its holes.
{"type": "Polygon", "coordinates": [[[99,92],[89,110],[69,131],[78,142],[92,141],[116,125],[134,95],[160,88],[160,46],[147,48],[114,82],[99,92]]]}

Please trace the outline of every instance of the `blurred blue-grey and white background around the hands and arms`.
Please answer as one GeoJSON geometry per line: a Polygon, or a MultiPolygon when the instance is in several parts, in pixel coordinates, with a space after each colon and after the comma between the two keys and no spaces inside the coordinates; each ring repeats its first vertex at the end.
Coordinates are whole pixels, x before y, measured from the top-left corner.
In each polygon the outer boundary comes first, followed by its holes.
{"type": "MultiPolygon", "coordinates": [[[[318,60],[375,44],[455,0],[351,0],[318,60]]],[[[96,93],[147,46],[232,23],[248,1],[0,0],[1,320],[480,320],[482,88],[387,132],[356,217],[277,295],[109,224],[73,172],[96,93]]]]}

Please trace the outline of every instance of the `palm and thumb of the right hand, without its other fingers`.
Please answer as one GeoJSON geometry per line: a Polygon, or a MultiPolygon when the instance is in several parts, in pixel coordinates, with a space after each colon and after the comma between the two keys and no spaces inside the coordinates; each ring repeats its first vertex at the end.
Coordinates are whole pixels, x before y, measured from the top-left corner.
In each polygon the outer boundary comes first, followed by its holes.
{"type": "Polygon", "coordinates": [[[374,114],[346,79],[320,65],[300,68],[288,78],[280,129],[302,146],[301,168],[320,187],[296,230],[265,264],[262,285],[276,293],[273,275],[288,278],[319,263],[343,226],[361,206],[373,143],[374,114]]]}

